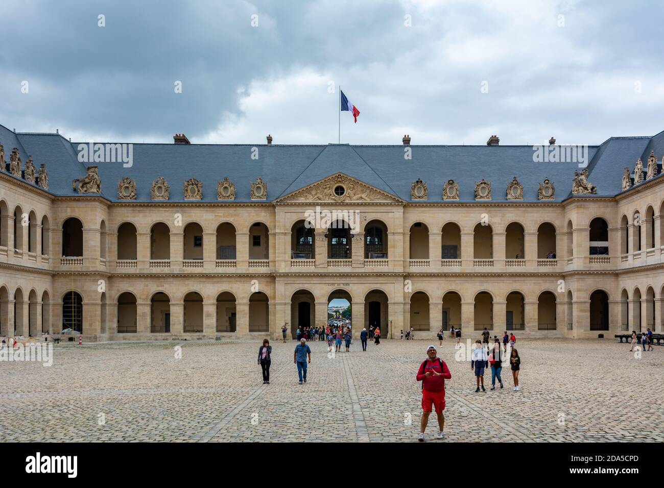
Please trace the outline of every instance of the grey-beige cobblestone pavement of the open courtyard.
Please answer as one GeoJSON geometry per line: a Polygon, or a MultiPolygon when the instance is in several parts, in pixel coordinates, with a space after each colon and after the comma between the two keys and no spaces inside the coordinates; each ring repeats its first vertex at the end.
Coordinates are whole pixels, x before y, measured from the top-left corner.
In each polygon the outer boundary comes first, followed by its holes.
{"type": "MultiPolygon", "coordinates": [[[[357,342],[333,357],[309,343],[303,385],[294,341],[272,344],[269,385],[258,341],[181,344],[181,359],[177,343],[108,343],[57,345],[50,367],[0,363],[0,442],[416,440],[429,342],[370,342],[366,353],[357,342]]],[[[610,340],[522,339],[523,390],[508,366],[503,390],[475,393],[455,345],[439,348],[452,371],[442,442],[664,442],[664,347],[635,359],[610,340]]],[[[437,430],[432,416],[427,434],[437,430]]]]}

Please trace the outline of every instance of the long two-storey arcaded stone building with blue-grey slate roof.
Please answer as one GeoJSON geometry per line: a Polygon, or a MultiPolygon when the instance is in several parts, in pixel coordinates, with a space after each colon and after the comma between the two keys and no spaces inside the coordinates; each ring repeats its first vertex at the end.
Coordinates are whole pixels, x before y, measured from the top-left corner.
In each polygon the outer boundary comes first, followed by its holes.
{"type": "Polygon", "coordinates": [[[333,298],[351,303],[356,335],[664,332],[662,134],[591,146],[578,171],[491,139],[180,137],[134,145],[131,166],[82,163],[60,135],[0,129],[0,335],[274,339],[324,325],[333,298]]]}

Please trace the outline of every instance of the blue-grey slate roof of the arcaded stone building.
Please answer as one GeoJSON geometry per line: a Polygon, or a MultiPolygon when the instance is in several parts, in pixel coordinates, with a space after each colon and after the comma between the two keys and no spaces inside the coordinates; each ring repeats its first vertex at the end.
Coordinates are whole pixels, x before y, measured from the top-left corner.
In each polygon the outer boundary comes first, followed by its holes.
{"type": "MultiPolygon", "coordinates": [[[[493,202],[505,202],[507,185],[516,176],[523,185],[523,201],[537,202],[538,183],[548,177],[560,202],[571,197],[576,163],[534,163],[531,145],[410,145],[412,159],[404,158],[404,145],[266,145],[266,144],[145,144],[133,143],[133,165],[80,163],[78,142],[52,133],[14,133],[0,125],[5,161],[13,147],[19,148],[25,166],[32,155],[35,167],[44,163],[48,191],[58,196],[78,195],[72,179],[83,177],[86,166],[99,167],[102,197],[118,201],[118,181],[135,179],[137,200],[150,200],[152,182],[162,176],[170,185],[171,202],[185,202],[183,184],[190,178],[203,182],[203,201],[218,202],[216,186],[223,177],[235,183],[236,203],[250,202],[250,183],[260,176],[268,184],[268,202],[288,195],[335,173],[345,173],[395,195],[410,199],[410,185],[422,179],[428,201],[443,202],[444,183],[459,184],[461,202],[475,201],[475,182],[491,183],[493,202]],[[252,149],[258,148],[258,159],[252,149]]],[[[588,181],[598,187],[597,196],[620,193],[625,167],[632,171],[640,157],[644,168],[650,151],[658,163],[664,155],[664,131],[651,137],[610,137],[590,145],[588,181]]],[[[659,177],[659,175],[658,175],[659,177]]],[[[190,201],[191,202],[191,201],[190,201]]],[[[224,203],[224,201],[220,202],[224,203]]]]}

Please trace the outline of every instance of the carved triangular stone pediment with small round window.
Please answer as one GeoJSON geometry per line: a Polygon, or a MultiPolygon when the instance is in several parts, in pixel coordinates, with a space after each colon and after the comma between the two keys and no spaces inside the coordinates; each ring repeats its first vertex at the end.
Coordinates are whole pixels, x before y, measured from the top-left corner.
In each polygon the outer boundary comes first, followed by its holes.
{"type": "Polygon", "coordinates": [[[362,181],[337,173],[277,199],[278,203],[404,203],[404,201],[362,181]]]}

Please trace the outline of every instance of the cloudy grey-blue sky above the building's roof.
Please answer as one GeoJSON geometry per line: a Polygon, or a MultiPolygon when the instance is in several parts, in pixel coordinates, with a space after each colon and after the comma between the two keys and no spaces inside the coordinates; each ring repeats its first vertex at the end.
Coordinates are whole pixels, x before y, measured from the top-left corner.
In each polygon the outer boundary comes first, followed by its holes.
{"type": "Polygon", "coordinates": [[[341,85],[361,111],[341,114],[345,143],[653,135],[663,18],[647,1],[3,0],[0,123],[74,141],[329,143],[341,85]]]}

